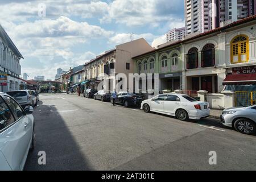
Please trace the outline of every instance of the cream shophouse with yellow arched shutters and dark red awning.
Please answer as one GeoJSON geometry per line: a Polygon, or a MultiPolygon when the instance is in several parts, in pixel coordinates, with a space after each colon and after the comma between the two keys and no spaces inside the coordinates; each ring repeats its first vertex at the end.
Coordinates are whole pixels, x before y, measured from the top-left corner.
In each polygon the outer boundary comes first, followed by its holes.
{"type": "Polygon", "coordinates": [[[218,93],[224,88],[256,89],[255,15],[199,34],[182,44],[184,90],[218,93]]]}

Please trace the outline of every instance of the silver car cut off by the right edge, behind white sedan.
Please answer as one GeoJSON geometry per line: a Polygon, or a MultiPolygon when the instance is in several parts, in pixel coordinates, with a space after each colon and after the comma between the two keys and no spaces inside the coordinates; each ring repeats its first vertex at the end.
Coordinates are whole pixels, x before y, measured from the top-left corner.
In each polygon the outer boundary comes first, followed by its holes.
{"type": "Polygon", "coordinates": [[[224,109],[220,118],[223,125],[234,127],[240,133],[256,133],[256,105],[224,109]]]}

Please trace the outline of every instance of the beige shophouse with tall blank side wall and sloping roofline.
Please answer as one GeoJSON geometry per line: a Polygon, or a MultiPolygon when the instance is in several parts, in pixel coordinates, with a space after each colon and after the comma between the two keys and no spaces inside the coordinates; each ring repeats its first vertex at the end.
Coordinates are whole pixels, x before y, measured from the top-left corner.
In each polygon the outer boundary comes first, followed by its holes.
{"type": "Polygon", "coordinates": [[[86,88],[112,91],[116,84],[122,80],[122,78],[115,79],[118,73],[123,73],[127,78],[129,73],[134,73],[134,62],[131,57],[153,49],[143,38],[119,44],[114,49],[106,51],[85,63],[85,81],[82,84],[85,84],[86,88]],[[108,76],[108,81],[105,80],[105,76],[108,76]],[[98,88],[103,80],[105,80],[105,88],[104,86],[98,88]]]}

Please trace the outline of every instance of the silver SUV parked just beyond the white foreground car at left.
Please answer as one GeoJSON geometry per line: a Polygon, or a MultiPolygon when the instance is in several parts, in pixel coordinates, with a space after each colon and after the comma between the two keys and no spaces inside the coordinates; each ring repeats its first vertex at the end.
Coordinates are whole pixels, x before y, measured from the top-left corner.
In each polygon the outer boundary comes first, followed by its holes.
{"type": "Polygon", "coordinates": [[[38,100],[32,90],[15,90],[6,93],[19,102],[22,107],[36,106],[38,104],[38,100]]]}

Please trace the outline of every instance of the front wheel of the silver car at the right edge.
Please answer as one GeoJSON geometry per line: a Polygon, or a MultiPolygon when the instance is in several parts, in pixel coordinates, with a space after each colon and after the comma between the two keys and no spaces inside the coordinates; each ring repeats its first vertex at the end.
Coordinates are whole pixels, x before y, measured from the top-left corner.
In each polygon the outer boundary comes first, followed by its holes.
{"type": "Polygon", "coordinates": [[[234,128],[243,134],[255,134],[256,133],[256,125],[253,121],[246,118],[237,119],[234,122],[234,128]]]}

